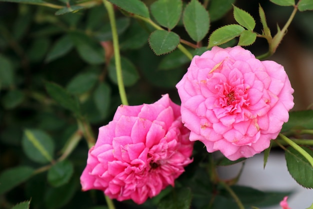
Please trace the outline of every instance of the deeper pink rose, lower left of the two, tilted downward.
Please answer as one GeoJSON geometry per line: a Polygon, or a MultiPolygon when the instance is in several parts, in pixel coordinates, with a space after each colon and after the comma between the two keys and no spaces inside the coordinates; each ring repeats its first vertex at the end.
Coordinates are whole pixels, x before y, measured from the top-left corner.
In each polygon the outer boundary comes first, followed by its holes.
{"type": "Polygon", "coordinates": [[[153,104],[119,106],[88,152],[82,190],[99,189],[110,198],[143,203],[173,186],[192,162],[188,136],[180,107],[167,94],[153,104]]]}

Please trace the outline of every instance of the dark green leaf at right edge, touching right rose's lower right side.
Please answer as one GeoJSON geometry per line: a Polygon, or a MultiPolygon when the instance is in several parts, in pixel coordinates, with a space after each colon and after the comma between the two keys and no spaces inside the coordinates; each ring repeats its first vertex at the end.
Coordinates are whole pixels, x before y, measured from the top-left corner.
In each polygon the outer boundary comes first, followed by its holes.
{"type": "Polygon", "coordinates": [[[289,120],[282,125],[281,132],[290,129],[313,129],[313,110],[289,112],[289,120]]]}

